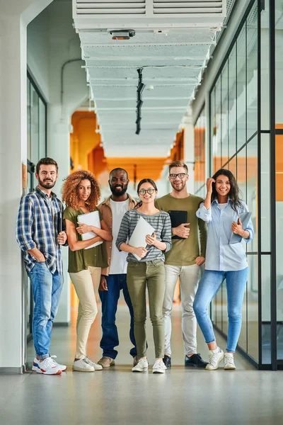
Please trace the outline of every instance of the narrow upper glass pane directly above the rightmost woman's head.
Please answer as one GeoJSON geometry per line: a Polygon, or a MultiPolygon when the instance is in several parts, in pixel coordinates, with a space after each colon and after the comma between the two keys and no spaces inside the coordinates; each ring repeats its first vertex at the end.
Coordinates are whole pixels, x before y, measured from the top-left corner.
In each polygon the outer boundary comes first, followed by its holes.
{"type": "Polygon", "coordinates": [[[221,80],[221,166],[224,166],[228,161],[229,150],[228,63],[224,66],[221,80]]]}

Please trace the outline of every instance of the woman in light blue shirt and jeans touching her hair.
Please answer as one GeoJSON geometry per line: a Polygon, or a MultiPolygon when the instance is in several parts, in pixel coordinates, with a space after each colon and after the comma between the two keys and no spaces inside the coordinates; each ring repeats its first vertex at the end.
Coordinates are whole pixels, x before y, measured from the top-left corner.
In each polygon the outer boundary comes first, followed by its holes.
{"type": "Polygon", "coordinates": [[[246,251],[241,238],[245,242],[253,239],[251,220],[248,221],[246,229],[243,229],[239,217],[248,212],[248,207],[239,200],[238,192],[238,184],[231,171],[220,169],[212,178],[207,179],[207,196],[197,210],[197,217],[208,225],[205,270],[194,302],[197,322],[209,348],[207,370],[217,369],[223,359],[224,369],[236,368],[233,353],[241,332],[243,295],[248,278],[246,251]],[[232,234],[239,235],[238,242],[230,243],[232,234]],[[225,354],[216,344],[212,321],[207,312],[224,279],[229,319],[225,354]]]}

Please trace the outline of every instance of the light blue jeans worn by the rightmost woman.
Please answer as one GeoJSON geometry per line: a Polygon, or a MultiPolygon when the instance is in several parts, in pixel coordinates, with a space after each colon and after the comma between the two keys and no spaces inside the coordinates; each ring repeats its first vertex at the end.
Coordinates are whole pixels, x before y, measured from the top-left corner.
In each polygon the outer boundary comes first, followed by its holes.
{"type": "Polygon", "coordinates": [[[202,334],[204,334],[205,342],[209,344],[215,341],[212,321],[207,310],[225,278],[229,322],[226,351],[234,353],[241,332],[242,304],[248,278],[248,267],[239,271],[205,270],[195,295],[193,308],[197,323],[202,329],[202,334]]]}

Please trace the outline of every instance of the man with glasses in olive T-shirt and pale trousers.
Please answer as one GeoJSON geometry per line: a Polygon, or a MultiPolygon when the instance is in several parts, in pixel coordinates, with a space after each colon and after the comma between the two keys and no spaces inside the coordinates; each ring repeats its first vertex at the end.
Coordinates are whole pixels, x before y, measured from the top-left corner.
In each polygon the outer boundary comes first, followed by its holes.
{"type": "MultiPolygon", "coordinates": [[[[207,225],[196,216],[203,199],[187,192],[188,169],[181,161],[169,165],[171,193],[156,200],[156,208],[163,211],[181,211],[187,222],[172,227],[172,249],[166,253],[166,293],[163,302],[165,350],[163,362],[171,367],[171,311],[175,285],[180,279],[182,303],[182,333],[185,366],[205,368],[197,353],[197,320],[192,305],[199,283],[200,266],[204,263],[207,245],[207,225]],[[184,213],[184,211],[186,213],[184,213]],[[200,232],[200,246],[199,246],[200,232]]],[[[169,212],[170,213],[170,212],[169,212]]],[[[173,213],[174,214],[174,213],[173,213]]]]}

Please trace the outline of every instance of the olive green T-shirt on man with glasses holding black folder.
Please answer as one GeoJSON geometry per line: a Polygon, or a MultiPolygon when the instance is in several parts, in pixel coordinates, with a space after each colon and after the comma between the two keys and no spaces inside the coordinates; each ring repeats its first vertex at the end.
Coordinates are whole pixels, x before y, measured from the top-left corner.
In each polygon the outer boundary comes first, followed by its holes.
{"type": "Polygon", "coordinates": [[[207,247],[207,223],[197,218],[196,212],[203,199],[190,194],[187,198],[173,198],[170,194],[156,199],[158,210],[187,211],[190,236],[187,239],[172,239],[172,248],[165,254],[165,263],[171,266],[191,266],[197,256],[205,257],[207,247]],[[199,242],[200,240],[200,242],[199,242]]]}

